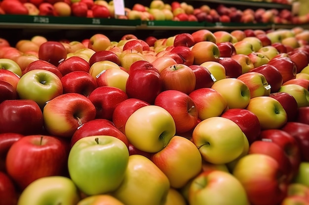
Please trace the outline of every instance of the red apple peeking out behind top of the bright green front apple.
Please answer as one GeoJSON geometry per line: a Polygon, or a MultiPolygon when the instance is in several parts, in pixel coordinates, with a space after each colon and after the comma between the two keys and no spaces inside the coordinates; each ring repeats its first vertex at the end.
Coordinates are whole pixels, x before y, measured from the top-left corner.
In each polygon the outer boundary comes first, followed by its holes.
{"type": "Polygon", "coordinates": [[[108,119],[93,119],[82,124],[71,138],[71,147],[77,140],[94,135],[109,135],[116,137],[129,148],[129,141],[126,136],[108,119]]]}

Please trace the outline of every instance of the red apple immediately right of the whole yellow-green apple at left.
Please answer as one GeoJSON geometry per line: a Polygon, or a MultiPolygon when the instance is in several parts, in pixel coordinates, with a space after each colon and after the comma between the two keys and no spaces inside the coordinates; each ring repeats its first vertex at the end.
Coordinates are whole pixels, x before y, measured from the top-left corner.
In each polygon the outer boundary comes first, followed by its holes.
{"type": "Polygon", "coordinates": [[[85,71],[73,71],[64,75],[61,79],[63,93],[75,92],[89,97],[97,88],[95,79],[85,71]]]}

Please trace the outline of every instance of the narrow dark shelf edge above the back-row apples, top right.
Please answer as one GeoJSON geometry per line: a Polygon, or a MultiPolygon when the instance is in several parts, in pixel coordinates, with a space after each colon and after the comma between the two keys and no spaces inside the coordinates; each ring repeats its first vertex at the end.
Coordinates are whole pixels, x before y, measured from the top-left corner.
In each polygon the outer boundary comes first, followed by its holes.
{"type": "Polygon", "coordinates": [[[278,9],[289,9],[289,10],[291,10],[292,8],[291,4],[272,3],[264,1],[250,1],[250,0],[198,0],[198,1],[242,5],[242,6],[254,6],[260,8],[278,8],[278,9]]]}

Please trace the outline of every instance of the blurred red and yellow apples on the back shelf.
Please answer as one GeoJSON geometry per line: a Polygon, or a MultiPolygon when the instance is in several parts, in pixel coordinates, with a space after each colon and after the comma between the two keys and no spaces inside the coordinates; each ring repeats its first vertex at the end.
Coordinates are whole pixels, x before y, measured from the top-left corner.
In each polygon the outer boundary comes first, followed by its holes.
{"type": "MultiPolygon", "coordinates": [[[[279,1],[279,0],[277,0],[279,1]]],[[[280,0],[277,3],[288,3],[280,0]]],[[[125,7],[125,15],[118,19],[144,21],[192,21],[209,23],[275,23],[275,24],[305,24],[309,15],[294,15],[288,9],[253,10],[237,9],[220,4],[211,8],[207,4],[194,7],[185,1],[164,3],[162,0],[152,0],[149,6],[135,3],[132,8],[125,7]]],[[[77,16],[88,18],[115,18],[114,1],[106,0],[2,0],[0,14],[40,15],[40,16],[77,16]]]]}

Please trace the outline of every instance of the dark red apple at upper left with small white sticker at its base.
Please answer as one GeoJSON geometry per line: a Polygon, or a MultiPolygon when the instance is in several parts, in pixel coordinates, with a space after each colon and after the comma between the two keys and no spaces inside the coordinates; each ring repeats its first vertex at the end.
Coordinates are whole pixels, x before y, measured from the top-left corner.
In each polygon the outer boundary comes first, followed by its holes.
{"type": "Polygon", "coordinates": [[[58,41],[47,41],[39,46],[39,59],[58,66],[61,61],[67,58],[67,50],[58,41]]]}

